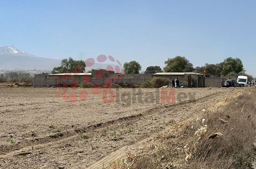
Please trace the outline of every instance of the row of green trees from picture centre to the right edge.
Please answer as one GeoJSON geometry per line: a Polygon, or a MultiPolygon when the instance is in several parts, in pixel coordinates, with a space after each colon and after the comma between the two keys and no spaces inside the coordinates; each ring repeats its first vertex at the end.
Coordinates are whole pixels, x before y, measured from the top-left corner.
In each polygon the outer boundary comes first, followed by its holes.
{"type": "MultiPolygon", "coordinates": [[[[190,63],[190,61],[184,56],[175,56],[174,58],[168,58],[164,64],[165,67],[163,70],[159,66],[150,66],[146,68],[144,73],[195,72],[202,74],[205,73],[208,77],[236,77],[238,75],[245,75],[249,80],[253,80],[253,76],[245,73],[246,70],[244,69],[243,63],[239,58],[228,57],[221,63],[206,63],[204,66],[194,68],[193,64],[190,63]]],[[[131,61],[124,64],[124,69],[125,73],[138,73],[141,70],[141,66],[138,62],[131,61]]]]}

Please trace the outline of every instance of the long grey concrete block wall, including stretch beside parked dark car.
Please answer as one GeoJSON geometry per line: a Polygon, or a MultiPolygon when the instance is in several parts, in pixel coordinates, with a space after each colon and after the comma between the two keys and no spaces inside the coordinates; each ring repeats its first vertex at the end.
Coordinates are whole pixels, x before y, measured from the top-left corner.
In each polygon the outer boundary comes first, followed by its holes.
{"type": "MultiPolygon", "coordinates": [[[[111,79],[112,83],[119,84],[119,83],[132,83],[140,85],[143,82],[147,80],[151,80],[152,77],[165,77],[168,79],[176,79],[178,78],[180,80],[180,86],[186,85],[187,83],[184,83],[183,81],[187,82],[187,74],[185,75],[152,75],[152,74],[126,74],[126,75],[114,75],[114,74],[108,74],[104,73],[104,76],[102,78],[97,78],[95,75],[93,77],[90,75],[82,76],[82,75],[75,75],[75,76],[49,76],[49,75],[35,75],[34,77],[34,87],[46,87],[46,86],[55,86],[58,84],[71,84],[72,82],[76,82],[76,84],[80,84],[86,79],[91,80],[93,84],[100,84],[104,85],[105,79],[111,79]],[[115,78],[115,77],[116,78],[115,78]]],[[[197,75],[191,75],[191,78],[193,79],[193,85],[192,87],[202,87],[202,82],[200,82],[201,77],[197,77],[197,75]],[[199,82],[199,83],[198,83],[199,82]],[[200,85],[201,84],[201,85],[200,85]]],[[[234,79],[237,80],[237,77],[205,77],[205,87],[221,87],[221,82],[228,80],[228,79],[234,79]]]]}

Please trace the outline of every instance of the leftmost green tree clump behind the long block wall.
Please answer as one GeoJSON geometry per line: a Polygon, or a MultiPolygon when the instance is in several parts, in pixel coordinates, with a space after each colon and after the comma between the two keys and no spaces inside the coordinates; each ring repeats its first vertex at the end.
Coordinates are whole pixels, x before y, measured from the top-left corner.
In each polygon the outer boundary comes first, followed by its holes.
{"type": "Polygon", "coordinates": [[[69,57],[61,61],[60,67],[54,67],[52,74],[56,73],[83,73],[85,71],[85,62],[83,60],[74,60],[69,57]]]}

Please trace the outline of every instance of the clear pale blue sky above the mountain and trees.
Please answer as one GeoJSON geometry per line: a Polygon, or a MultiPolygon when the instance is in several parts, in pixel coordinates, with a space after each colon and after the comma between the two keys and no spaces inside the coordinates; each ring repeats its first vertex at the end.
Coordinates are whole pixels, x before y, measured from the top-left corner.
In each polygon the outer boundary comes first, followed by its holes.
{"type": "Polygon", "coordinates": [[[0,0],[0,46],[36,56],[111,55],[142,70],[185,56],[242,60],[256,77],[255,0],[0,0]]]}

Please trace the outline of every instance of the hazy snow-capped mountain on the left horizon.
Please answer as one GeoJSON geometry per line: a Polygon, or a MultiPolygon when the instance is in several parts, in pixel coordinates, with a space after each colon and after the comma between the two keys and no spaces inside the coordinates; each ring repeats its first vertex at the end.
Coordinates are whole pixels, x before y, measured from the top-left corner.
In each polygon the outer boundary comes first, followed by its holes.
{"type": "Polygon", "coordinates": [[[52,70],[60,65],[61,60],[31,55],[15,46],[0,47],[0,70],[52,70]]]}

